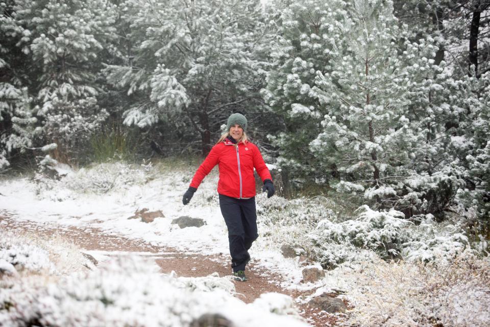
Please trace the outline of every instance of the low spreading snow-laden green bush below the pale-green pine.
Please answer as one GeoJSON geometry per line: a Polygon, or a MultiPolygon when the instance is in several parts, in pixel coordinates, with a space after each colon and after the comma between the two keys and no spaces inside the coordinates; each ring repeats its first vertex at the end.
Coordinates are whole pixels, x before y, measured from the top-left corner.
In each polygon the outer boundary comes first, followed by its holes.
{"type": "Polygon", "coordinates": [[[443,228],[430,216],[415,225],[394,210],[373,211],[363,205],[358,211],[360,214],[354,220],[334,223],[324,219],[311,233],[314,256],[324,268],[358,261],[360,250],[374,251],[385,260],[405,258],[428,262],[454,258],[469,245],[468,238],[458,227],[443,228]]]}

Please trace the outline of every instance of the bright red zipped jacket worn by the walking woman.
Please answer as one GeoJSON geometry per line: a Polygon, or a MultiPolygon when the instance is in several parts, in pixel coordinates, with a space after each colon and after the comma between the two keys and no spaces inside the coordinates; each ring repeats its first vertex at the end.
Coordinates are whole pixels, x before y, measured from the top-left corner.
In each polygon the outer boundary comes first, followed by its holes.
{"type": "Polygon", "coordinates": [[[216,144],[195,172],[190,186],[198,188],[204,177],[219,166],[218,193],[232,198],[255,196],[254,168],[262,181],[270,179],[271,173],[265,166],[259,148],[250,142],[240,142],[237,147],[229,139],[216,144]]]}

